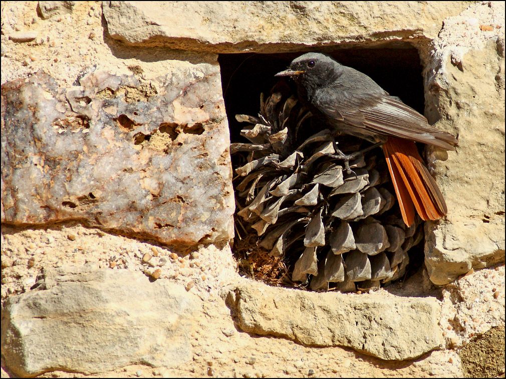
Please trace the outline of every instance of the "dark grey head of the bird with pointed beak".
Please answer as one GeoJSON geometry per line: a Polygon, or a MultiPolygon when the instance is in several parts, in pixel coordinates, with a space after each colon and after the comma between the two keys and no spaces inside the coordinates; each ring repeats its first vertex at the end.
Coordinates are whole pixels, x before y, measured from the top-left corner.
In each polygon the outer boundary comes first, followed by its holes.
{"type": "Polygon", "coordinates": [[[274,76],[289,76],[308,90],[321,87],[340,76],[341,64],[322,53],[307,53],[294,59],[287,70],[274,76]]]}

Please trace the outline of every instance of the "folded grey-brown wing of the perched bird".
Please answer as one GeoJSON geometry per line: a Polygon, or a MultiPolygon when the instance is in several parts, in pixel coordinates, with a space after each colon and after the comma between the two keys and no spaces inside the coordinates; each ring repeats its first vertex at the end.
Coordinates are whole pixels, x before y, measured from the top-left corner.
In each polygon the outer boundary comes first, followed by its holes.
{"type": "Polygon", "coordinates": [[[432,127],[423,115],[386,92],[338,93],[337,99],[327,94],[319,101],[320,111],[332,119],[378,134],[455,150],[457,140],[452,134],[432,127]]]}

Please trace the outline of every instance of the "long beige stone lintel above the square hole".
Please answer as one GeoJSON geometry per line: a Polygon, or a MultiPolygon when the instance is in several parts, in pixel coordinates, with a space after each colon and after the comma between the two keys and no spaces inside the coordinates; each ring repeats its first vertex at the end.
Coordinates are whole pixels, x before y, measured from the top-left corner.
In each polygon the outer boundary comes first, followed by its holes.
{"type": "Polygon", "coordinates": [[[437,36],[466,2],[103,2],[111,36],[123,42],[213,52],[278,53],[279,46],[437,36]],[[247,15],[247,16],[246,16],[247,15]],[[377,17],[377,15],[382,15],[377,17]],[[128,21],[126,21],[128,20],[128,21]],[[282,25],[282,27],[280,27],[282,25]]]}

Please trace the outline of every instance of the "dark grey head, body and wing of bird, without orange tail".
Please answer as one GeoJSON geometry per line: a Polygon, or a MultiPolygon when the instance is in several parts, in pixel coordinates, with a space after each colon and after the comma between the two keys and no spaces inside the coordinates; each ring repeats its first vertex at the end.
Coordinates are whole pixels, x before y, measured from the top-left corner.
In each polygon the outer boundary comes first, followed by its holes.
{"type": "Polygon", "coordinates": [[[304,54],[278,76],[291,76],[300,96],[343,133],[373,142],[395,136],[455,150],[457,140],[452,134],[432,127],[423,115],[390,96],[370,77],[325,54],[304,54]]]}

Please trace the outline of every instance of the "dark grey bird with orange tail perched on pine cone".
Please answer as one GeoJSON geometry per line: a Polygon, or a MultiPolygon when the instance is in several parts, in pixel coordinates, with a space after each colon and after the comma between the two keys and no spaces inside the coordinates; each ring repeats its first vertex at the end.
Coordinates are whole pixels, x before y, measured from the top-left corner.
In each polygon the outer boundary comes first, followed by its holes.
{"type": "MultiPolygon", "coordinates": [[[[420,157],[415,142],[455,151],[457,138],[429,125],[427,119],[385,91],[374,80],[323,53],[294,59],[277,77],[291,77],[299,97],[340,133],[383,146],[404,223],[413,224],[415,211],[424,221],[439,220],[448,210],[440,189],[420,157]]],[[[339,152],[348,162],[356,155],[339,152]]]]}

